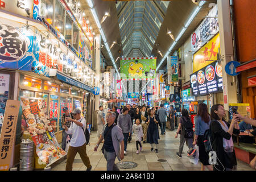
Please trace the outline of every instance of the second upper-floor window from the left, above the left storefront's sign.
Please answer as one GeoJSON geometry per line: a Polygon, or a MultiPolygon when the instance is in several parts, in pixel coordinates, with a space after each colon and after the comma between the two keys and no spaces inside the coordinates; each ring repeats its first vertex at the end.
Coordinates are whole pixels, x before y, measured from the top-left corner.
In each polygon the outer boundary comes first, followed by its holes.
{"type": "Polygon", "coordinates": [[[54,26],[56,30],[59,31],[61,34],[64,33],[64,14],[65,14],[64,7],[61,5],[61,3],[58,0],[56,0],[54,26]]]}

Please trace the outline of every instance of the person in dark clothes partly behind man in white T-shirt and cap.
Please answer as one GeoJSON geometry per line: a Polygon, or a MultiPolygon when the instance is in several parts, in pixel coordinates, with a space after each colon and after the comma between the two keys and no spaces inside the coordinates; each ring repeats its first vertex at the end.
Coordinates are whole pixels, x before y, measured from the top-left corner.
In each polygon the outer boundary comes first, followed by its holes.
{"type": "MultiPolygon", "coordinates": [[[[67,121],[68,118],[73,119],[73,114],[69,113],[68,107],[63,108],[64,114],[61,116],[61,126],[64,125],[68,128],[71,126],[71,122],[67,121]]],[[[65,130],[62,131],[62,142],[61,142],[61,148],[65,150],[66,148],[66,142],[67,142],[68,134],[65,133],[65,130]]],[[[72,135],[69,135],[70,138],[72,138],[72,135]]]]}

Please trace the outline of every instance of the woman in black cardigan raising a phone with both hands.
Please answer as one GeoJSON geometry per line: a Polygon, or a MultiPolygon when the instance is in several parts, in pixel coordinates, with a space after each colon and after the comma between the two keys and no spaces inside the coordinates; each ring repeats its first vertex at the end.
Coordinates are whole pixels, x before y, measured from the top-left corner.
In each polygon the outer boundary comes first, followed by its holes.
{"type": "Polygon", "coordinates": [[[214,164],[214,171],[232,171],[237,169],[237,159],[234,152],[232,134],[239,135],[239,118],[233,114],[232,122],[226,122],[224,106],[216,104],[210,110],[210,144],[212,150],[216,152],[217,164],[214,164]]]}

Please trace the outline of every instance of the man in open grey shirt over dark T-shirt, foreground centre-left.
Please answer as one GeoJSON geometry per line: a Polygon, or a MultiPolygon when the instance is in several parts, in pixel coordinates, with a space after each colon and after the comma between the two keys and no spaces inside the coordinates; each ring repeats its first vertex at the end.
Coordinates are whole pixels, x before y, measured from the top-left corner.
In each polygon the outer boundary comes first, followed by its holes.
{"type": "Polygon", "coordinates": [[[98,146],[104,139],[102,149],[104,150],[104,157],[107,161],[107,171],[119,171],[117,165],[115,164],[115,158],[117,157],[119,161],[125,158],[122,129],[117,126],[114,121],[115,113],[109,111],[106,114],[107,124],[104,126],[103,135],[101,135],[101,138],[96,143],[96,147],[94,147],[94,151],[97,151],[98,146]]]}

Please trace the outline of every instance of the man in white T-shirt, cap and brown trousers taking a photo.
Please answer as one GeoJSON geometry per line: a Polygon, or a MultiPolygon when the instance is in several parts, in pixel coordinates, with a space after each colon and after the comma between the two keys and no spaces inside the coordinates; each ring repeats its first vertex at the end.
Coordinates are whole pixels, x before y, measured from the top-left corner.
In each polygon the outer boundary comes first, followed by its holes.
{"type": "Polygon", "coordinates": [[[86,154],[86,139],[84,133],[86,121],[85,118],[81,118],[81,110],[75,109],[72,113],[74,119],[67,119],[67,121],[72,122],[69,129],[67,126],[63,126],[67,134],[72,134],[72,139],[68,149],[66,171],[72,171],[73,162],[77,152],[79,153],[82,162],[87,167],[86,171],[90,171],[92,169],[92,165],[90,165],[90,160],[86,154]],[[82,130],[82,128],[84,128],[84,130],[82,130]]]}

